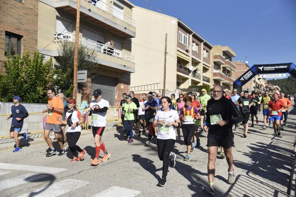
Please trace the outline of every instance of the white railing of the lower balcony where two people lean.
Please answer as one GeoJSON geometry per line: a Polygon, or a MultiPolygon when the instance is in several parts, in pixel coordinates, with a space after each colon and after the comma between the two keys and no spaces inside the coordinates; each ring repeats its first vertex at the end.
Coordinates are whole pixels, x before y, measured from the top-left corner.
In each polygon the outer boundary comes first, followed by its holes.
{"type": "MultiPolygon", "coordinates": [[[[55,33],[55,42],[60,42],[61,40],[66,40],[70,42],[74,42],[75,34],[71,32],[61,32],[61,33],[55,33]]],[[[79,36],[79,43],[82,44],[84,47],[89,48],[91,50],[97,51],[99,53],[104,53],[106,55],[115,56],[117,58],[122,58],[126,61],[130,61],[134,63],[134,56],[125,53],[123,51],[120,51],[118,49],[108,47],[107,45],[104,45],[102,43],[98,43],[94,40],[90,40],[88,38],[84,38],[82,36],[79,36]]]]}

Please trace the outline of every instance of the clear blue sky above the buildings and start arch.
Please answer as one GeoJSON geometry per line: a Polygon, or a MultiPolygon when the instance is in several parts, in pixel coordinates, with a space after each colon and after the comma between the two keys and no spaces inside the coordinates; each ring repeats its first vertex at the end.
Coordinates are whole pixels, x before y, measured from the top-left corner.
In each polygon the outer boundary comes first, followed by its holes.
{"type": "MultiPolygon", "coordinates": [[[[146,0],[130,2],[147,8],[146,0]]],[[[233,61],[296,64],[295,0],[149,0],[149,6],[180,19],[212,45],[230,46],[237,54],[233,61]]]]}

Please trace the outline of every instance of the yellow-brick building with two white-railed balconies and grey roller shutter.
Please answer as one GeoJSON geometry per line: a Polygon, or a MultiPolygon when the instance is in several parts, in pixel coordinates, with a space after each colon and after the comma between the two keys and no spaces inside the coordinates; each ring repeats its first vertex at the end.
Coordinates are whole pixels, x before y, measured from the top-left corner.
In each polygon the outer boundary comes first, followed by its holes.
{"type": "MultiPolygon", "coordinates": [[[[118,106],[122,93],[130,89],[130,74],[135,71],[131,38],[136,36],[134,5],[126,0],[80,2],[79,44],[94,51],[98,68],[87,80],[82,96],[102,89],[104,99],[118,106]],[[105,44],[114,41],[115,48],[105,44]]],[[[58,56],[63,42],[75,42],[77,0],[39,0],[38,50],[45,59],[58,56]]]]}

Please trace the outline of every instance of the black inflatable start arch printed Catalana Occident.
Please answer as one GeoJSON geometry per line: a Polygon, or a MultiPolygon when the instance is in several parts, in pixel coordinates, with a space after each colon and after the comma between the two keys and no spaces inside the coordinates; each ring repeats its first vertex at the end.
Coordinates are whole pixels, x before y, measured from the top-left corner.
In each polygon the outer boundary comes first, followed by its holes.
{"type": "Polygon", "coordinates": [[[283,64],[255,64],[247,70],[242,76],[233,82],[233,89],[236,88],[237,92],[242,92],[242,86],[250,81],[257,74],[277,74],[289,73],[296,77],[296,66],[293,63],[283,64]]]}

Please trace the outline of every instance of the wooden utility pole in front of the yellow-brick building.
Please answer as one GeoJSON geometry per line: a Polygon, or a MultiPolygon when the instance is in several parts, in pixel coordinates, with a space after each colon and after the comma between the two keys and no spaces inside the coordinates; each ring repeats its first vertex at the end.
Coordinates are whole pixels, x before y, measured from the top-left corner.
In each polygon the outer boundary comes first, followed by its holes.
{"type": "Polygon", "coordinates": [[[74,51],[74,77],[73,77],[73,99],[77,96],[77,72],[78,72],[78,43],[79,43],[79,25],[80,25],[80,0],[77,0],[76,14],[76,34],[75,34],[75,51],[74,51]]]}

